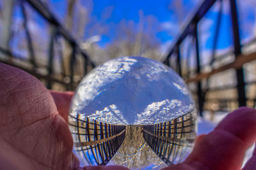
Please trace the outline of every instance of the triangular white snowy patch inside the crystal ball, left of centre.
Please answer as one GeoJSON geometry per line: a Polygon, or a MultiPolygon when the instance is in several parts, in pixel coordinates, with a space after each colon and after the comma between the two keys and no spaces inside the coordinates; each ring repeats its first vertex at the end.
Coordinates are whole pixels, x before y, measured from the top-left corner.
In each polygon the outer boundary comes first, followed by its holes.
{"type": "Polygon", "coordinates": [[[98,122],[104,122],[108,124],[122,124],[122,125],[127,125],[128,122],[127,120],[124,119],[123,114],[121,113],[120,110],[117,109],[115,104],[112,104],[104,110],[97,110],[95,113],[92,115],[89,115],[88,118],[97,120],[98,122]]]}

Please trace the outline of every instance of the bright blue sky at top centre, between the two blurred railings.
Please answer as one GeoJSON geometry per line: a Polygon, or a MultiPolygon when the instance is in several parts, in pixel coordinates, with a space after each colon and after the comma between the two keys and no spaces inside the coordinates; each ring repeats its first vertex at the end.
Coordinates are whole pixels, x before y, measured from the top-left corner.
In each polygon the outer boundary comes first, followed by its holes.
{"type": "MultiPolygon", "coordinates": [[[[184,1],[184,10],[186,13],[193,10],[193,7],[196,6],[196,2],[199,1],[184,1]],[[192,7],[192,8],[191,8],[192,7]]],[[[173,22],[172,29],[176,29],[176,31],[179,30],[177,27],[177,16],[175,16],[175,13],[168,9],[168,6],[170,4],[170,0],[162,0],[156,3],[156,1],[149,0],[149,1],[117,1],[117,0],[94,0],[93,1],[93,13],[92,15],[97,16],[96,18],[100,21],[100,13],[106,6],[112,6],[113,12],[111,17],[109,17],[108,20],[105,21],[106,24],[111,23],[113,25],[113,30],[115,30],[115,25],[118,24],[121,20],[132,20],[135,25],[138,24],[140,18],[139,18],[139,11],[143,11],[143,15],[145,17],[147,16],[154,16],[158,20],[159,24],[166,24],[168,22],[173,22]]],[[[109,36],[111,37],[111,35],[109,36]]],[[[166,41],[170,41],[173,39],[172,32],[170,30],[167,30],[163,28],[162,31],[157,32],[156,37],[160,39],[161,43],[164,43],[166,41]]],[[[104,41],[104,39],[102,39],[104,41]]],[[[111,38],[107,39],[111,42],[111,38]]],[[[105,43],[105,42],[102,42],[105,43]]]]}

